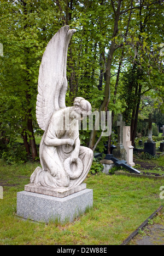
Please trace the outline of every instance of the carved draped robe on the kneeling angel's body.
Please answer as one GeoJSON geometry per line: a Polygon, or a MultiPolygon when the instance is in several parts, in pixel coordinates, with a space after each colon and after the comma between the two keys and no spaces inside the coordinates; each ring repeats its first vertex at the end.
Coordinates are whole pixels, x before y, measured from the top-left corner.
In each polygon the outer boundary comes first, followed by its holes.
{"type": "Polygon", "coordinates": [[[34,177],[31,177],[31,179],[34,178],[33,182],[37,186],[76,187],[84,181],[90,170],[93,152],[90,148],[80,146],[79,124],[78,120],[71,118],[71,109],[72,107],[68,107],[54,112],[46,127],[39,149],[43,169],[37,169],[33,172],[34,177]],[[56,139],[58,141],[68,138],[74,141],[73,146],[52,145],[56,139]],[[48,143],[50,141],[51,143],[48,143]],[[77,162],[71,163],[70,158],[75,147],[79,150],[79,157],[77,162]]]}

